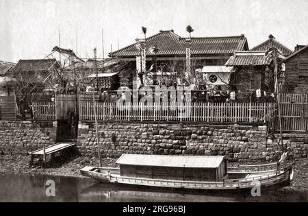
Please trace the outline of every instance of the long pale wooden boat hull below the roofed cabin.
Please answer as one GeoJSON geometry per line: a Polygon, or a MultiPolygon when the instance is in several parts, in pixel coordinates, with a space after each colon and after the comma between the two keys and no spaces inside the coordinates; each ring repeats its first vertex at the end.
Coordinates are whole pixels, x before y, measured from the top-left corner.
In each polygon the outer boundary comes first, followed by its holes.
{"type": "Polygon", "coordinates": [[[293,176],[293,165],[285,169],[283,173],[268,176],[260,176],[256,180],[226,180],[224,182],[188,182],[178,180],[160,180],[149,178],[133,178],[120,176],[119,170],[113,169],[107,171],[107,167],[103,168],[106,172],[99,172],[99,167],[84,167],[81,174],[88,176],[100,182],[110,184],[121,184],[134,187],[156,187],[180,190],[197,190],[197,191],[251,191],[253,188],[259,187],[261,190],[280,189],[290,185],[293,176]]]}

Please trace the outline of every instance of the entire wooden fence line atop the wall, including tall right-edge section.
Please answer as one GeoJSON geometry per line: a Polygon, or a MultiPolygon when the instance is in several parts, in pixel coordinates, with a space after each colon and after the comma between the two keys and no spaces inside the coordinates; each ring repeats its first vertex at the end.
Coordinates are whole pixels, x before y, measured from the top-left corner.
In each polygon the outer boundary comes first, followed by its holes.
{"type": "MultiPolygon", "coordinates": [[[[179,105],[117,106],[115,103],[99,101],[97,95],[95,99],[99,120],[270,122],[279,130],[277,106],[274,103],[196,102],[179,105]]],[[[2,119],[14,119],[10,116],[13,116],[13,112],[16,113],[16,104],[9,101],[3,104],[6,105],[1,106],[2,119]]],[[[283,93],[280,95],[280,104],[283,132],[308,132],[308,94],[283,93]]],[[[69,112],[75,112],[77,109],[77,98],[76,95],[56,95],[55,101],[35,101],[32,106],[34,119],[66,119],[69,112]]],[[[93,121],[93,108],[92,95],[79,95],[79,119],[93,121]]]]}

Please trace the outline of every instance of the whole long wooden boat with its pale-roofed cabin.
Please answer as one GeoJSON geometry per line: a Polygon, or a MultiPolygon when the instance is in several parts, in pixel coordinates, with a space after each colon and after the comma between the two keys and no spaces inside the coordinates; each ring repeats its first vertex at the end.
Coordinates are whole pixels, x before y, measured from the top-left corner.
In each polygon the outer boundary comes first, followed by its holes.
{"type": "Polygon", "coordinates": [[[268,165],[227,169],[224,156],[123,154],[116,161],[118,168],[84,167],[81,173],[101,182],[142,187],[231,191],[259,186],[271,189],[285,187],[293,179],[294,163],[286,165],[285,158],[268,165]],[[260,170],[272,165],[276,169],[260,170]]]}

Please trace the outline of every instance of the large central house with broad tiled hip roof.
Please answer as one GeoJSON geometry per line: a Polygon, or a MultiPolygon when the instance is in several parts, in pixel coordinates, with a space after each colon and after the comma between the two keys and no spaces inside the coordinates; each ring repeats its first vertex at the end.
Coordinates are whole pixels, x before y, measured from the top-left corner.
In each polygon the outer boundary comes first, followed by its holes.
{"type": "MultiPolygon", "coordinates": [[[[186,48],[191,50],[191,71],[205,65],[223,66],[234,51],[248,50],[247,39],[240,36],[182,38],[173,30],[159,31],[144,41],[146,71],[184,73],[186,48]]],[[[119,72],[120,85],[131,86],[131,77],[136,76],[136,56],[140,55],[138,43],[111,52],[112,58],[128,62],[119,72]]]]}

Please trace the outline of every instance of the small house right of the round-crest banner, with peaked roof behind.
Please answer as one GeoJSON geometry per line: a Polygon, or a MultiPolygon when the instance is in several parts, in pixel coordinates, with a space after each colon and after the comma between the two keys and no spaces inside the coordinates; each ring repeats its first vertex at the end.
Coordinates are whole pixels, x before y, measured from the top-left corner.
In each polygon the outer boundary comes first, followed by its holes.
{"type": "MultiPolygon", "coordinates": [[[[261,97],[274,93],[274,65],[268,60],[266,53],[270,49],[278,49],[281,59],[290,56],[292,50],[280,43],[272,34],[268,40],[253,47],[250,51],[235,51],[226,62],[227,67],[233,67],[234,73],[230,76],[231,91],[235,91],[237,99],[257,100],[256,90],[260,89],[261,97]],[[238,93],[238,94],[236,94],[238,93]],[[264,94],[265,93],[265,94],[264,94]]],[[[279,67],[278,73],[281,82],[284,82],[284,68],[279,67]]],[[[268,98],[270,99],[270,98],[268,98]]]]}

